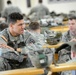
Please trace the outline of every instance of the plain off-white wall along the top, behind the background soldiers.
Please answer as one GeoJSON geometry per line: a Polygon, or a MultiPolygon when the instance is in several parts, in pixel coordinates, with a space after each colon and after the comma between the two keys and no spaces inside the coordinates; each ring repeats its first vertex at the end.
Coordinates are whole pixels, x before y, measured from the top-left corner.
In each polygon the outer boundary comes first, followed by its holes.
{"type": "MultiPolygon", "coordinates": [[[[38,0],[30,0],[31,7],[27,6],[28,0],[11,0],[13,5],[18,6],[23,13],[28,14],[30,9],[38,4],[38,0]]],[[[5,8],[7,6],[6,4],[7,0],[4,0],[4,6],[5,8]]],[[[48,0],[43,0],[43,5],[47,6],[49,11],[55,11],[56,13],[69,13],[71,10],[76,10],[76,1],[74,2],[63,2],[63,3],[48,3],[48,0]]]]}

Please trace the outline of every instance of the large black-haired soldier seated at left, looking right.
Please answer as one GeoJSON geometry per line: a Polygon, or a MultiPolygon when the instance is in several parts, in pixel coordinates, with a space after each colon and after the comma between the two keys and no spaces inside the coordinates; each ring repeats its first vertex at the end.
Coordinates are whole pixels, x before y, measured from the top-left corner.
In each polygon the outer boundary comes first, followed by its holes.
{"type": "Polygon", "coordinates": [[[0,66],[0,70],[32,66],[27,52],[28,50],[37,49],[37,47],[41,48],[43,44],[40,43],[40,40],[30,45],[26,44],[29,34],[25,34],[25,23],[20,13],[15,12],[10,14],[8,17],[8,24],[8,28],[0,33],[0,53],[1,58],[3,57],[3,60],[0,61],[0,64],[3,64],[0,66]]]}

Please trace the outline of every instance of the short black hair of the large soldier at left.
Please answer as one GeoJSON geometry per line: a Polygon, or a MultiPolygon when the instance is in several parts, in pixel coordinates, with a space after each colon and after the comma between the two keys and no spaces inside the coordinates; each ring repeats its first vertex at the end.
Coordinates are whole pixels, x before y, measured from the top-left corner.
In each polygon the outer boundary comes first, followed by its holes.
{"type": "Polygon", "coordinates": [[[14,13],[11,13],[8,18],[7,18],[7,23],[16,23],[17,20],[22,20],[23,19],[23,15],[18,13],[18,12],[14,12],[14,13]]]}

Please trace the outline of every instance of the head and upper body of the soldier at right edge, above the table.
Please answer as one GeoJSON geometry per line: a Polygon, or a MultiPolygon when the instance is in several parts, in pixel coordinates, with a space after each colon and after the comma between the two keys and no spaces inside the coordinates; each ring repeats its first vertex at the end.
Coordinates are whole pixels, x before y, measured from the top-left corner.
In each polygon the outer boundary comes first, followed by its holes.
{"type": "Polygon", "coordinates": [[[64,33],[62,36],[62,41],[64,42],[70,41],[71,39],[76,38],[76,32],[75,32],[76,16],[72,16],[71,18],[69,18],[68,24],[69,24],[69,31],[64,33]]]}

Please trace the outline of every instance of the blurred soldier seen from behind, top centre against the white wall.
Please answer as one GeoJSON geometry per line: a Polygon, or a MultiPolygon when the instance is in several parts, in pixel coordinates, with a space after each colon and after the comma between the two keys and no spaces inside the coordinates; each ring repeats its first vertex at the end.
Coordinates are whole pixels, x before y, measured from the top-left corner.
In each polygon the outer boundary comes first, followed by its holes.
{"type": "Polygon", "coordinates": [[[42,5],[42,0],[39,0],[39,5],[32,8],[30,13],[28,14],[28,16],[31,16],[31,15],[32,17],[30,17],[30,19],[32,21],[37,21],[42,19],[46,15],[50,15],[50,13],[48,8],[42,5]]]}

